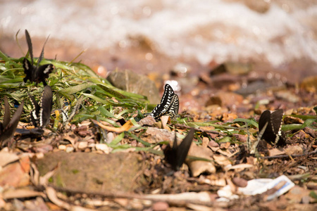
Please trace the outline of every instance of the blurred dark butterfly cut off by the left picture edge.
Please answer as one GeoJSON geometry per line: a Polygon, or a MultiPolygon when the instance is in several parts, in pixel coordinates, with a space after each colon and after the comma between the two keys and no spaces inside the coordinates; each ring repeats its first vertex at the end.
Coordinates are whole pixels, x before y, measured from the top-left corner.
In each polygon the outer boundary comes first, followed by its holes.
{"type": "Polygon", "coordinates": [[[8,104],[8,98],[4,96],[4,122],[0,122],[0,146],[4,146],[8,139],[13,136],[18,122],[20,121],[20,116],[23,111],[24,101],[20,104],[12,119],[10,118],[10,106],[8,104]]]}

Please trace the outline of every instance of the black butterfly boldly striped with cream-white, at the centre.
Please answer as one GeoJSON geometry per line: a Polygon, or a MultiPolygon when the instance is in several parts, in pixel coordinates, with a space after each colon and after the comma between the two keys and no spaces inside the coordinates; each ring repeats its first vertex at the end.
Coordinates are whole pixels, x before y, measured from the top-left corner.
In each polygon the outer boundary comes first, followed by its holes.
{"type": "Polygon", "coordinates": [[[144,115],[151,115],[156,120],[159,120],[163,115],[168,115],[171,120],[175,120],[178,117],[179,105],[178,95],[174,93],[169,84],[165,84],[161,103],[155,106],[151,113],[145,113],[144,115]]]}

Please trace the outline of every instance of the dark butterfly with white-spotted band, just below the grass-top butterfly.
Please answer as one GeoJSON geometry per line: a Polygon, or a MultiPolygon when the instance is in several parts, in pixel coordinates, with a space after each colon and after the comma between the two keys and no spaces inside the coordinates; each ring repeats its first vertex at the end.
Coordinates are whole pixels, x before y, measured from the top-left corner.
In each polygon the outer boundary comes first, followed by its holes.
{"type": "Polygon", "coordinates": [[[45,127],[51,117],[51,106],[53,103],[53,93],[51,87],[45,86],[39,103],[34,96],[30,95],[33,110],[30,120],[35,127],[45,127]]]}

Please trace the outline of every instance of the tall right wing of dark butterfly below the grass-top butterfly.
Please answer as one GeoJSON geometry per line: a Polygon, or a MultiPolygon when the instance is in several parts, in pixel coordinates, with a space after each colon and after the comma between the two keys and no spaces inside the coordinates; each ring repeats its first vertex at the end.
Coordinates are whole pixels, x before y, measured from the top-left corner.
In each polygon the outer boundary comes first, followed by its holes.
{"type": "Polygon", "coordinates": [[[39,126],[45,127],[51,117],[51,106],[53,103],[53,92],[51,87],[45,86],[41,97],[41,108],[39,110],[39,126]]]}

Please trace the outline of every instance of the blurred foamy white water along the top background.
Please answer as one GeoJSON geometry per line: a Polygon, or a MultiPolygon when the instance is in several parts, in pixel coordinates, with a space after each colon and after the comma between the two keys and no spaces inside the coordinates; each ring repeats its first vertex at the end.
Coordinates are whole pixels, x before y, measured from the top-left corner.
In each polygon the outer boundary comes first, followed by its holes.
{"type": "Polygon", "coordinates": [[[0,39],[27,29],[32,36],[50,34],[84,49],[111,49],[129,47],[131,37],[142,35],[157,51],[202,65],[211,60],[266,61],[274,67],[293,60],[317,63],[316,2],[291,8],[266,2],[268,11],[258,13],[240,1],[2,0],[0,39]]]}

